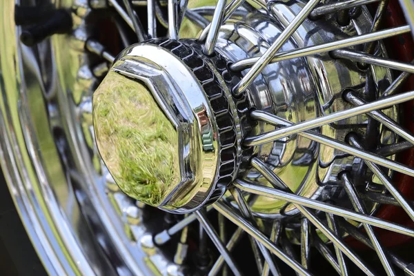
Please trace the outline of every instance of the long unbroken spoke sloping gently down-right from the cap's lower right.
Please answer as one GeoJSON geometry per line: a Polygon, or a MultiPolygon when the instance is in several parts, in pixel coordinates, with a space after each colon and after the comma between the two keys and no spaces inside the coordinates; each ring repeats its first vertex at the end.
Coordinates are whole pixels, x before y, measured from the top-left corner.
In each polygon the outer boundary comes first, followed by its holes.
{"type": "Polygon", "coordinates": [[[345,217],[347,219],[353,219],[355,221],[359,221],[359,222],[366,223],[366,224],[371,224],[379,228],[391,230],[396,233],[401,233],[403,235],[414,237],[413,229],[407,228],[405,226],[401,226],[399,224],[394,224],[392,222],[379,219],[377,217],[372,217],[369,215],[356,213],[356,212],[353,212],[345,208],[341,208],[338,206],[334,206],[332,204],[327,204],[321,201],[317,201],[315,199],[308,199],[306,197],[301,197],[299,195],[293,195],[291,193],[286,193],[282,190],[276,190],[274,188],[257,186],[255,184],[250,184],[247,181],[243,181],[241,179],[237,179],[237,181],[235,181],[235,186],[248,193],[253,193],[256,195],[263,195],[265,197],[270,197],[273,199],[285,200],[288,202],[292,202],[294,204],[306,206],[308,208],[313,208],[315,210],[321,210],[326,213],[332,213],[340,217],[345,217]]]}

